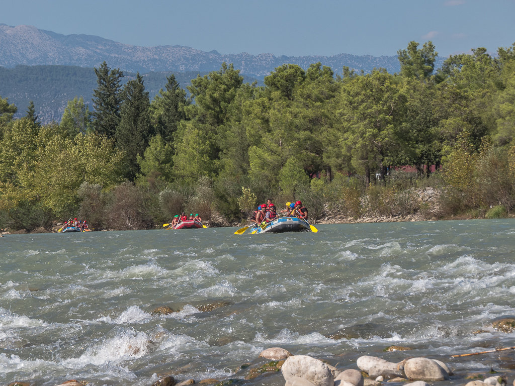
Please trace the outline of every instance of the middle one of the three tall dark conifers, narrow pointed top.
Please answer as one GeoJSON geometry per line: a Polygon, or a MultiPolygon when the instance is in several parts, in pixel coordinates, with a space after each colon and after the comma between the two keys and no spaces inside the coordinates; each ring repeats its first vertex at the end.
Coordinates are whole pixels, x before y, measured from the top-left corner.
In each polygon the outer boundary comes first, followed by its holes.
{"type": "Polygon", "coordinates": [[[120,122],[116,128],[116,146],[126,155],[125,177],[133,180],[140,172],[138,154],[143,155],[153,135],[150,125],[150,99],[140,73],[136,74],[136,79],[127,82],[121,97],[123,102],[120,107],[120,122]]]}

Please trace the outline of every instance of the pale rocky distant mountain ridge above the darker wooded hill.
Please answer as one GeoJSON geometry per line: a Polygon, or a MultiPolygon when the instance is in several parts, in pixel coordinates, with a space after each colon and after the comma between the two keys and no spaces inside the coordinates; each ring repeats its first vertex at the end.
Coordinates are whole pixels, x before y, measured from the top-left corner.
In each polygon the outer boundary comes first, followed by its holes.
{"type": "MultiPolygon", "coordinates": [[[[406,42],[407,43],[407,42],[406,42]]],[[[262,80],[274,68],[292,63],[307,68],[321,62],[341,73],[344,66],[365,72],[374,67],[389,73],[400,71],[397,56],[338,54],[332,56],[276,57],[272,54],[219,54],[195,48],[166,45],[143,47],[127,45],[98,36],[63,35],[33,26],[0,24],[0,66],[70,65],[98,67],[106,61],[111,68],[127,72],[210,72],[220,69],[222,62],[233,63],[242,75],[262,80]]]]}

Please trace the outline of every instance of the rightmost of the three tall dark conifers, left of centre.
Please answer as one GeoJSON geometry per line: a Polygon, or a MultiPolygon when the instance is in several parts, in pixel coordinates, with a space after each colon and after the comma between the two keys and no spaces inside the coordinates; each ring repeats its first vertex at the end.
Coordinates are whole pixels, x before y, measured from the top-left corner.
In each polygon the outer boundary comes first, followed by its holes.
{"type": "Polygon", "coordinates": [[[150,103],[150,116],[156,133],[166,143],[172,143],[177,125],[186,118],[184,107],[190,102],[186,100],[186,91],[180,87],[174,74],[166,80],[165,90],[159,90],[150,103]]]}

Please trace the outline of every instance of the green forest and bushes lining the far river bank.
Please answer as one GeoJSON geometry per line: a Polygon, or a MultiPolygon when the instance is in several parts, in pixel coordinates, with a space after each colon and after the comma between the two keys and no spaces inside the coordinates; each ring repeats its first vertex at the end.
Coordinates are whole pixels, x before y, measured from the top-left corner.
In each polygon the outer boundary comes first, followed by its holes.
{"type": "Polygon", "coordinates": [[[438,71],[436,58],[431,42],[410,42],[398,74],[284,64],[263,86],[223,63],[191,81],[190,97],[170,75],[153,99],[143,76],[104,62],[92,109],[70,98],[59,125],[41,125],[32,108],[13,118],[2,97],[0,226],[80,215],[96,229],[149,229],[182,210],[216,225],[268,197],[302,200],[311,221],[424,215],[426,186],[440,192],[439,218],[509,215],[515,44],[438,71]],[[406,165],[416,175],[398,171],[406,165]]]}

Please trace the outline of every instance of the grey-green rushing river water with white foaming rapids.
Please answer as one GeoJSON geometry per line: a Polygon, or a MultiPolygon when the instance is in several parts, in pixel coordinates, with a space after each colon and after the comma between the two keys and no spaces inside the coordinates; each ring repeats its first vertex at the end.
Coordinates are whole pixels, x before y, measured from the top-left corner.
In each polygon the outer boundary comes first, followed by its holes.
{"type": "Polygon", "coordinates": [[[340,369],[361,355],[428,356],[454,367],[450,384],[491,366],[512,371],[513,354],[450,355],[514,344],[515,333],[490,325],[515,314],[515,221],[317,228],[0,238],[0,383],[238,378],[277,346],[340,369]],[[180,311],[152,314],[158,306],[180,311]],[[413,349],[384,353],[390,345],[413,349]]]}

